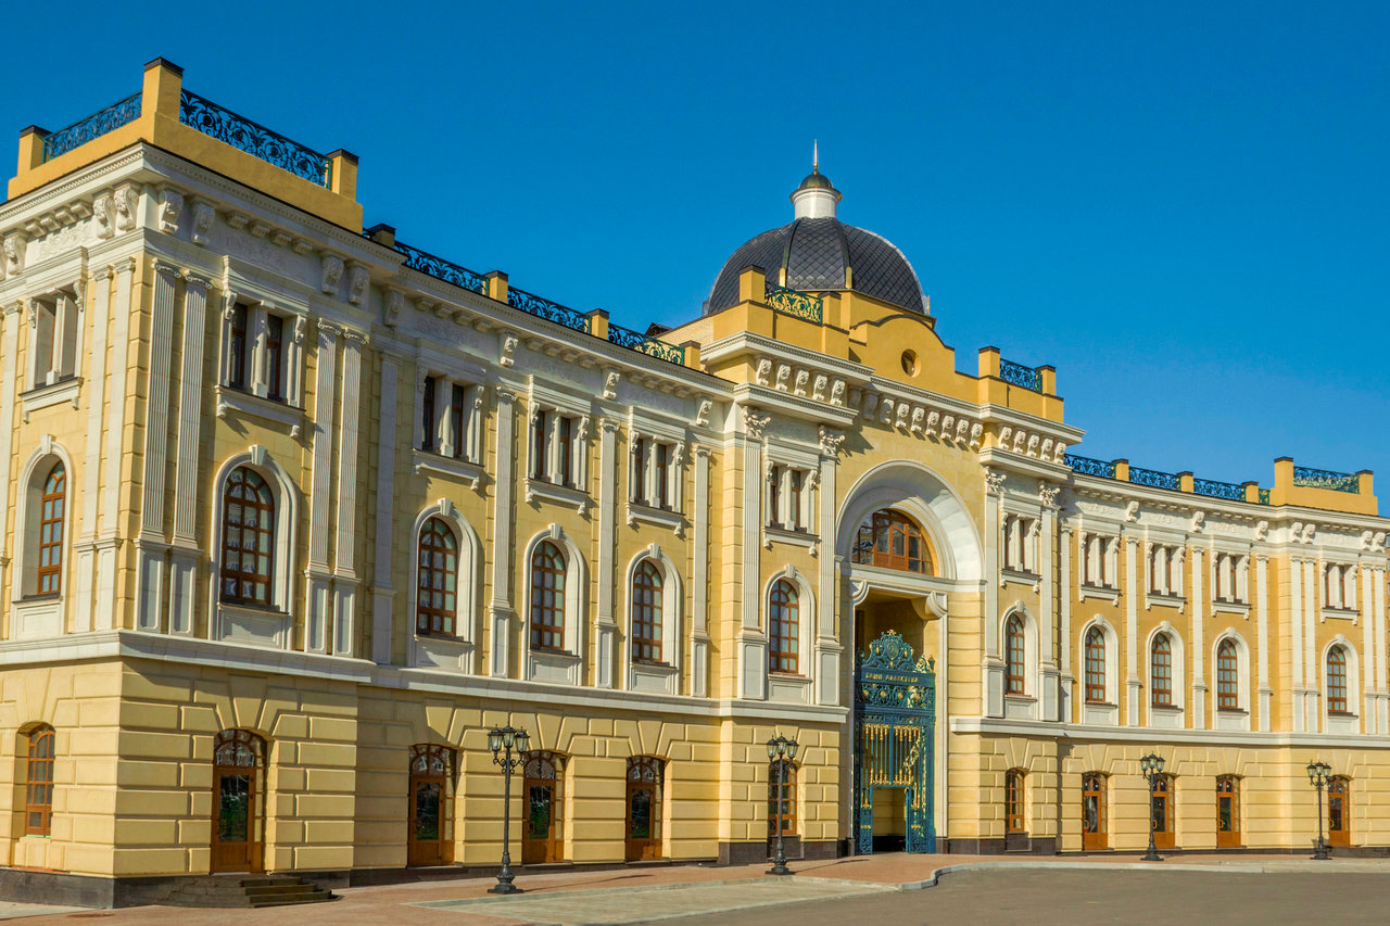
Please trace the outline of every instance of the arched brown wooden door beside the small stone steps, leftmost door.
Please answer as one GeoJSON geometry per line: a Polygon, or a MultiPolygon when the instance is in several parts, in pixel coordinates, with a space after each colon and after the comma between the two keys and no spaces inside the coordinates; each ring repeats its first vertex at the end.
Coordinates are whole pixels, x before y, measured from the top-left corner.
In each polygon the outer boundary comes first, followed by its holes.
{"type": "Polygon", "coordinates": [[[265,741],[249,730],[222,730],[213,742],[211,873],[261,872],[265,741]]]}

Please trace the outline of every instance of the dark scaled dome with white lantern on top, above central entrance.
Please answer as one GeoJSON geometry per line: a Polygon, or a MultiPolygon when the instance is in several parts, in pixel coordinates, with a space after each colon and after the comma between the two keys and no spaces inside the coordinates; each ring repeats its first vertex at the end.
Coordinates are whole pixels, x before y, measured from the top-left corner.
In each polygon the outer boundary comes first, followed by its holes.
{"type": "Polygon", "coordinates": [[[767,282],[803,292],[853,289],[926,314],[922,284],[901,250],[881,235],[835,218],[840,190],[819,170],[791,195],[796,218],[744,243],[724,261],[705,314],[738,303],[738,274],[762,267],[767,282]]]}

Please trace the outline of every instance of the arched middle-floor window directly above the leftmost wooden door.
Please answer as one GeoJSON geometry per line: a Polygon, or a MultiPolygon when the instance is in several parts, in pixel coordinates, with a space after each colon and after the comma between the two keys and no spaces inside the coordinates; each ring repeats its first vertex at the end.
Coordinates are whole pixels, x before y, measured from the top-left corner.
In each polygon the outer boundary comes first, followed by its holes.
{"type": "Polygon", "coordinates": [[[275,549],[275,496],[254,470],[238,466],[222,489],[222,601],[268,608],[275,549]]]}

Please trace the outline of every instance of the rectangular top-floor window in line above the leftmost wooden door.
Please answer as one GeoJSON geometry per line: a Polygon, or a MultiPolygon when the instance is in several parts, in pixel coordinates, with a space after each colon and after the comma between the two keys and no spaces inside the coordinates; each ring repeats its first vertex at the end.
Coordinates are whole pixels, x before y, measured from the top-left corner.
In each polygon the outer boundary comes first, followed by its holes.
{"type": "Polygon", "coordinates": [[[263,303],[234,302],[222,313],[222,375],[229,389],[299,406],[306,318],[263,303]]]}

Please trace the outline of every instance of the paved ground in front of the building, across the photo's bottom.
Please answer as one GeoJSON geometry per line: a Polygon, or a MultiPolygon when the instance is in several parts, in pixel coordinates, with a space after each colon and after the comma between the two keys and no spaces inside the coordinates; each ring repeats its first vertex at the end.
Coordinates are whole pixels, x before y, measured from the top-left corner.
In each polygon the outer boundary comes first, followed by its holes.
{"type": "Polygon", "coordinates": [[[1284,856],[1005,859],[887,854],[803,862],[791,879],[764,865],[523,875],[525,893],[492,897],[492,879],[338,891],[331,904],[271,909],[54,911],[0,905],[0,919],[103,926],[1002,926],[1009,923],[1384,923],[1390,861],[1284,856]]]}

